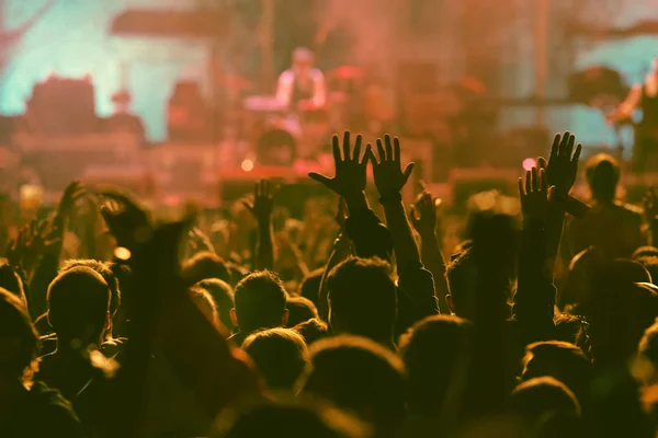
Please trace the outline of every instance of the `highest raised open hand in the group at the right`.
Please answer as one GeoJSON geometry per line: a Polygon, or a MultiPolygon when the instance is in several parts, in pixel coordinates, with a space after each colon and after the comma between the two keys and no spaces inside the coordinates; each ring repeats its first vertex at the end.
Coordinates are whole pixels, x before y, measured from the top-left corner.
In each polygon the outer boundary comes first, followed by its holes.
{"type": "Polygon", "coordinates": [[[557,134],[553,140],[548,162],[540,158],[540,168],[546,170],[548,186],[555,186],[555,192],[559,196],[567,196],[576,183],[582,146],[579,143],[574,152],[575,141],[576,137],[569,131],[563,136],[557,134]]]}

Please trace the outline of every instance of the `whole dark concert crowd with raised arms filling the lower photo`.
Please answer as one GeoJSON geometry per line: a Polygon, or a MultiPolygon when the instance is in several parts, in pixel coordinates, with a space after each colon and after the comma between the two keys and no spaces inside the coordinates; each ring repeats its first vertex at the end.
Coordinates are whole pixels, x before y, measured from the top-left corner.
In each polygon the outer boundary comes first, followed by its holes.
{"type": "Polygon", "coordinates": [[[0,265],[0,436],[655,437],[658,200],[609,155],[572,198],[575,143],[452,255],[389,136],[336,136],[302,220],[268,181],[216,223],[71,183],[0,265]]]}

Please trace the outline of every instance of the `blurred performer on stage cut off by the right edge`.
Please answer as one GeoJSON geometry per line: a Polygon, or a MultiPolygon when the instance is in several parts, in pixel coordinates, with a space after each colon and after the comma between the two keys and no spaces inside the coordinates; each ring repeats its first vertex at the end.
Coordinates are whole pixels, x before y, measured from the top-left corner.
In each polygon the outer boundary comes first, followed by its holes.
{"type": "Polygon", "coordinates": [[[643,119],[635,126],[633,166],[644,172],[647,164],[658,164],[658,58],[643,83],[636,83],[620,106],[606,116],[608,122],[628,122],[635,110],[642,110],[643,119]]]}

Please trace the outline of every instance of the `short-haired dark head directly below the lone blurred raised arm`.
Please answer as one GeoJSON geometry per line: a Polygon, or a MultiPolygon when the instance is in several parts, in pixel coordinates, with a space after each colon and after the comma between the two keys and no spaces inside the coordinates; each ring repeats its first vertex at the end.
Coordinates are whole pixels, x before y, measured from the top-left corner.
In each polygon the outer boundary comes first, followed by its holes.
{"type": "Polygon", "coordinates": [[[282,324],[287,292],[281,278],[269,270],[249,274],[234,292],[235,311],[241,332],[271,328],[282,324]]]}

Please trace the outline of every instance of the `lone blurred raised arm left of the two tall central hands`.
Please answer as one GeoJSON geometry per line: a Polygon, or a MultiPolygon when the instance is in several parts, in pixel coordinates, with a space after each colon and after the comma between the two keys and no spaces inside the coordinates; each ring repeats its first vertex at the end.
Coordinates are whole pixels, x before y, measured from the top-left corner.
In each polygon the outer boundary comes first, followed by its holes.
{"type": "Polygon", "coordinates": [[[270,181],[256,183],[253,203],[245,200],[245,207],[251,211],[258,222],[258,243],[256,247],[254,269],[273,269],[274,267],[274,231],[272,228],[272,209],[274,208],[275,189],[270,181]]]}

